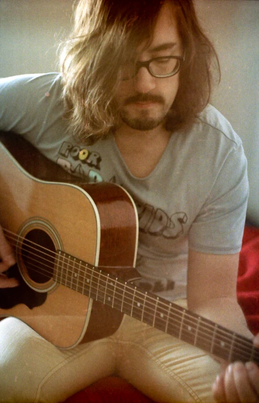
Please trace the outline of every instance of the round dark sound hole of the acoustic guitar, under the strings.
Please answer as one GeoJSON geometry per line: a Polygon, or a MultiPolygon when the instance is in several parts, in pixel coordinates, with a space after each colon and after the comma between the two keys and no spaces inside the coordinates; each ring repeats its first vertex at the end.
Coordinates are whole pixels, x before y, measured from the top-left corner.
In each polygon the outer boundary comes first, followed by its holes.
{"type": "Polygon", "coordinates": [[[46,283],[53,277],[55,245],[41,229],[33,229],[24,238],[21,253],[28,276],[36,283],[46,283]]]}

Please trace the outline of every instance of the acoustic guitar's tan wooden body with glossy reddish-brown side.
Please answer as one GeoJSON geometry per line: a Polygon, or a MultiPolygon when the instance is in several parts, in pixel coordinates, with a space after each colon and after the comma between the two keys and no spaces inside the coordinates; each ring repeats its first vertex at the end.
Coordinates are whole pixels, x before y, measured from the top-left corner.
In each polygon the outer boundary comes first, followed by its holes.
{"type": "MultiPolygon", "coordinates": [[[[29,159],[35,161],[32,154],[29,159]]],[[[131,273],[127,268],[134,267],[136,261],[138,233],[131,197],[108,183],[77,185],[35,178],[1,143],[0,160],[0,194],[4,195],[0,223],[8,233],[16,234],[13,243],[24,293],[27,290],[39,296],[37,306],[18,303],[0,308],[0,316],[21,319],[60,348],[114,333],[123,314],[59,284],[55,280],[56,258],[47,256],[46,260],[45,250],[51,250],[53,256],[63,250],[90,265],[104,267],[104,271],[105,267],[107,271],[117,267],[128,279],[131,273]],[[26,255],[24,240],[40,245],[41,264],[32,252],[26,255]],[[36,271],[31,262],[35,262],[36,271]],[[47,275],[45,267],[50,268],[47,275]]],[[[114,274],[116,269],[110,272],[114,274]]]]}

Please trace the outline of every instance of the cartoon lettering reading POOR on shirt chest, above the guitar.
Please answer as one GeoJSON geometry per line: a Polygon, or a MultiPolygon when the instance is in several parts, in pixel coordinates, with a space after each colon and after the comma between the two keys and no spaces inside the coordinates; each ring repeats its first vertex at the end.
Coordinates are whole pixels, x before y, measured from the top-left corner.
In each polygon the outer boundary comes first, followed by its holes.
{"type": "Polygon", "coordinates": [[[101,156],[97,152],[90,152],[85,147],[64,141],[59,149],[57,164],[72,175],[78,175],[84,180],[92,183],[102,182],[102,177],[98,171],[101,169],[101,156]],[[71,162],[72,160],[72,162],[71,162]],[[91,168],[88,172],[84,167],[91,168]],[[94,168],[94,169],[93,169],[94,168]]]}

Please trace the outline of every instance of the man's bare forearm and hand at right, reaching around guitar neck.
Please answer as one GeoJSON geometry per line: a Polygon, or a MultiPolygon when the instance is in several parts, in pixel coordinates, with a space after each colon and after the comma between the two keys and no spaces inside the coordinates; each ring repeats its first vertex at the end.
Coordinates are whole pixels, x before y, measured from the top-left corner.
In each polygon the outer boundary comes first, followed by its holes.
{"type": "MultiPolygon", "coordinates": [[[[237,302],[239,255],[207,255],[189,251],[189,309],[252,338],[237,302]]],[[[259,347],[259,335],[254,338],[259,347]]],[[[259,403],[259,368],[254,363],[222,364],[212,391],[220,403],[259,403]]]]}

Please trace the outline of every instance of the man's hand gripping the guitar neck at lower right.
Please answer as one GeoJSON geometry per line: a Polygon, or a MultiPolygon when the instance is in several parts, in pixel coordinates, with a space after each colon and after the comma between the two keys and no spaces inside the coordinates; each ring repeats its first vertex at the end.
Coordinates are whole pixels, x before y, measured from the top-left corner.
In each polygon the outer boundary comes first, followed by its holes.
{"type": "MultiPolygon", "coordinates": [[[[259,333],[254,345],[259,347],[259,333]]],[[[259,368],[251,362],[225,365],[212,390],[220,403],[259,403],[259,368]]]]}

